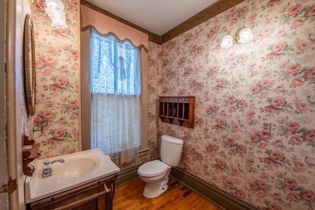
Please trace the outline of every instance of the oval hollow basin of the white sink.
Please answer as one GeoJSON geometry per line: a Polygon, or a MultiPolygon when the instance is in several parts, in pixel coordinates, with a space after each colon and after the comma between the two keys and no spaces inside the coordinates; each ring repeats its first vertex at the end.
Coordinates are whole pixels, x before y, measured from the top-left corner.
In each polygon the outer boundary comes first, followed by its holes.
{"type": "Polygon", "coordinates": [[[67,161],[64,161],[64,163],[59,164],[53,169],[53,175],[65,179],[81,177],[92,173],[98,165],[98,158],[77,157],[68,159],[67,161]]]}

